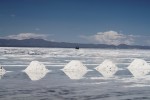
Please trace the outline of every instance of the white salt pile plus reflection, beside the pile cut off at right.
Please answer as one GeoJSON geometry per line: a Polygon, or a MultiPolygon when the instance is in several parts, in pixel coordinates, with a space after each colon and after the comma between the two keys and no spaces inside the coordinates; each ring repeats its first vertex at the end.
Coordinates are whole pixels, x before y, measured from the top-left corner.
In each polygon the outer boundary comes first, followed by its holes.
{"type": "Polygon", "coordinates": [[[112,77],[118,71],[118,67],[110,60],[105,60],[95,69],[104,77],[112,77]]]}

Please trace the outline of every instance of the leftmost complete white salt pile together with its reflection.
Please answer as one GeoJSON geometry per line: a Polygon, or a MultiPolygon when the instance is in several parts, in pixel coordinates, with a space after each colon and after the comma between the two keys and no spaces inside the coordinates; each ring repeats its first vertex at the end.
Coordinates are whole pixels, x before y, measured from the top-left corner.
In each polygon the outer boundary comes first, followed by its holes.
{"type": "Polygon", "coordinates": [[[44,64],[38,61],[32,61],[30,65],[24,70],[32,81],[37,81],[46,76],[50,72],[44,64]]]}

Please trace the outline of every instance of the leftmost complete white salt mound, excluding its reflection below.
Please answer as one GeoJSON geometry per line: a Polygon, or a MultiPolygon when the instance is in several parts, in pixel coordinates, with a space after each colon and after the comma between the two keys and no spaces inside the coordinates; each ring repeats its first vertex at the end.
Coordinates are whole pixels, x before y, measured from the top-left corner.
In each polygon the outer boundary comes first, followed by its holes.
{"type": "Polygon", "coordinates": [[[44,64],[38,61],[32,61],[30,65],[25,69],[25,72],[49,72],[44,64]]]}

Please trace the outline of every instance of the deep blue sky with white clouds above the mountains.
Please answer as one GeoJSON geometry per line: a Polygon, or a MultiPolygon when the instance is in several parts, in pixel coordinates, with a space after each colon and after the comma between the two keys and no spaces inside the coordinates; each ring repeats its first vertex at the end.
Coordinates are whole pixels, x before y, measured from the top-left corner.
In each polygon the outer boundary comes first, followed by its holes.
{"type": "Polygon", "coordinates": [[[0,0],[1,38],[150,45],[149,0],[0,0]]]}

